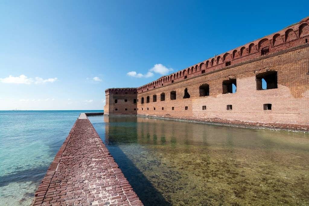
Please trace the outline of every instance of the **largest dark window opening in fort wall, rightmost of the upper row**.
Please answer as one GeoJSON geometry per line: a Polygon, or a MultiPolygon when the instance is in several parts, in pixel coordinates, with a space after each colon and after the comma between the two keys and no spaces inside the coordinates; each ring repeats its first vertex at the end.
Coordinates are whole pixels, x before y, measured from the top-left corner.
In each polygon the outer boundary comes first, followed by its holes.
{"type": "Polygon", "coordinates": [[[277,89],[277,88],[278,88],[278,77],[276,71],[267,71],[256,75],[256,90],[277,89]]]}

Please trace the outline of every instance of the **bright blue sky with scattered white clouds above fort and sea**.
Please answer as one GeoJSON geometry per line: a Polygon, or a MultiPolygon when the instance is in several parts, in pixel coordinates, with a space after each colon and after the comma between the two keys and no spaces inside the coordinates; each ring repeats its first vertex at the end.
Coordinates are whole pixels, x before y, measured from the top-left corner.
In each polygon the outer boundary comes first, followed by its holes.
{"type": "Polygon", "coordinates": [[[1,1],[0,110],[103,109],[309,15],[306,1],[1,1]]]}

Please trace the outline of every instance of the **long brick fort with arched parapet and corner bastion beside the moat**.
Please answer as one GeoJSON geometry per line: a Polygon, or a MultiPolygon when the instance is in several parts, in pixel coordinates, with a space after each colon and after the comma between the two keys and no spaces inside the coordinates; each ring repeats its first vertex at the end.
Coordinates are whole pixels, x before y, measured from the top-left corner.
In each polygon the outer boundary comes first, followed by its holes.
{"type": "Polygon", "coordinates": [[[138,88],[107,89],[104,114],[308,128],[308,40],[309,17],[138,88]]]}

